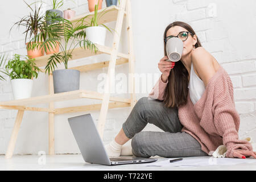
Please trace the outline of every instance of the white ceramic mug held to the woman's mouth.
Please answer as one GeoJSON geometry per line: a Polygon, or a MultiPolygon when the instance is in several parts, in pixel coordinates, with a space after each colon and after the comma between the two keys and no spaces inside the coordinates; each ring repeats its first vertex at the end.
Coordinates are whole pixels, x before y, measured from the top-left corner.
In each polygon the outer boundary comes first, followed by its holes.
{"type": "Polygon", "coordinates": [[[183,41],[179,38],[168,39],[166,43],[166,52],[169,61],[179,61],[183,52],[183,41]]]}

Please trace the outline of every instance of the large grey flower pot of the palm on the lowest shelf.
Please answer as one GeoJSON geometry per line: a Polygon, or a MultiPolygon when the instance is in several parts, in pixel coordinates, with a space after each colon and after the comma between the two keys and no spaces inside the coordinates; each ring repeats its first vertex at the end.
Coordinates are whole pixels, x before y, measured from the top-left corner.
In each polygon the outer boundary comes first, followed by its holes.
{"type": "Polygon", "coordinates": [[[57,69],[52,72],[54,93],[79,90],[80,71],[76,69],[57,69]]]}

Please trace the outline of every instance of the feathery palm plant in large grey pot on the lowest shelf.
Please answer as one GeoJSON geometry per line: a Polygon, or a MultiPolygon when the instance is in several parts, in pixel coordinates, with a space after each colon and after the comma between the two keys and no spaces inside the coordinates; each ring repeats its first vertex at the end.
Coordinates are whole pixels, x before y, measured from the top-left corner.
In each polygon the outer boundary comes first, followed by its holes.
{"type": "MultiPolygon", "coordinates": [[[[56,28],[54,31],[57,32],[59,37],[54,36],[47,38],[43,44],[43,48],[45,49],[47,43],[60,42],[59,45],[61,51],[59,53],[53,53],[53,55],[49,57],[45,67],[46,73],[48,72],[49,74],[52,72],[54,93],[79,90],[80,71],[76,69],[68,69],[68,60],[72,59],[72,52],[77,46],[84,49],[90,49],[94,51],[94,53],[97,53],[98,51],[96,45],[85,39],[86,34],[84,29],[88,27],[86,24],[80,22],[80,20],[77,20],[74,24],[64,18],[58,18],[58,20],[59,23],[55,23],[56,28]],[[60,41],[60,38],[63,38],[63,41],[60,41]],[[57,63],[63,63],[65,69],[55,70],[57,63]]],[[[38,36],[40,36],[40,34],[38,36]]]]}

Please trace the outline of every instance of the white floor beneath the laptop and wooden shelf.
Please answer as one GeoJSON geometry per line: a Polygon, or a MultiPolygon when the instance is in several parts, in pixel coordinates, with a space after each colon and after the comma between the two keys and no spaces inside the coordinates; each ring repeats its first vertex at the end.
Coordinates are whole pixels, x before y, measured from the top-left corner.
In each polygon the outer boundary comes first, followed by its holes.
{"type": "MultiPolygon", "coordinates": [[[[160,158],[154,156],[160,160],[160,158]]],[[[188,157],[184,159],[202,159],[206,157],[188,157]]],[[[142,164],[126,164],[119,166],[104,166],[100,164],[85,163],[80,154],[67,155],[14,155],[11,159],[5,159],[5,155],[0,155],[0,170],[128,170],[128,171],[157,171],[157,170],[256,170],[256,159],[241,159],[241,160],[255,160],[253,163],[240,163],[236,165],[211,165],[200,167],[148,167],[142,164]]],[[[151,163],[153,164],[153,163],[151,163]]]]}

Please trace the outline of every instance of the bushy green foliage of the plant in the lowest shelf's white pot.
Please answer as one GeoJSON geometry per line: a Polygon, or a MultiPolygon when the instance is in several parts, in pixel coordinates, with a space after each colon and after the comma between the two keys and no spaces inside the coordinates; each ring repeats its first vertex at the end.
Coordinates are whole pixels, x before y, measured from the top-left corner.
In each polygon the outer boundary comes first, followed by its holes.
{"type": "Polygon", "coordinates": [[[10,79],[27,78],[32,77],[37,78],[40,69],[34,63],[35,59],[20,60],[20,55],[15,54],[14,58],[9,60],[6,65],[6,75],[10,76],[10,79]]]}

